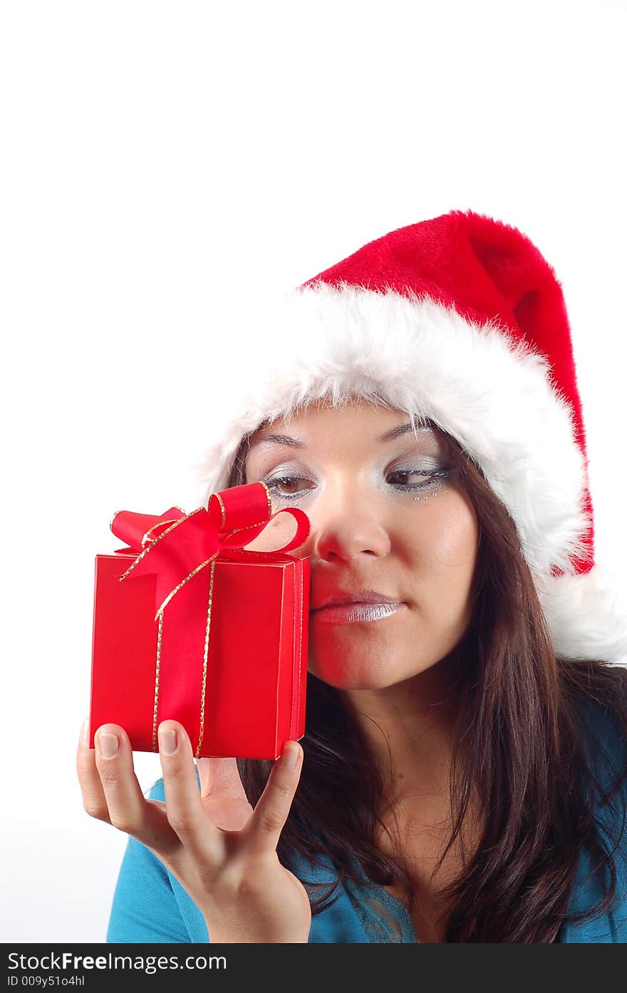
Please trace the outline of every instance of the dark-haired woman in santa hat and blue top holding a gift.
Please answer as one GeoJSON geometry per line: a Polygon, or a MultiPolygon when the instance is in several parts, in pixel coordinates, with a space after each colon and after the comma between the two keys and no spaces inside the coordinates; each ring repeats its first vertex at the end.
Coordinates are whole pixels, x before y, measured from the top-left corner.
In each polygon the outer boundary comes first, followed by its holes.
{"type": "Polygon", "coordinates": [[[307,733],[196,778],[164,721],[148,800],[122,728],[79,745],[85,809],[130,835],[108,940],[627,940],[627,611],[553,269],[451,212],[268,328],[200,470],[310,517],[307,733]]]}

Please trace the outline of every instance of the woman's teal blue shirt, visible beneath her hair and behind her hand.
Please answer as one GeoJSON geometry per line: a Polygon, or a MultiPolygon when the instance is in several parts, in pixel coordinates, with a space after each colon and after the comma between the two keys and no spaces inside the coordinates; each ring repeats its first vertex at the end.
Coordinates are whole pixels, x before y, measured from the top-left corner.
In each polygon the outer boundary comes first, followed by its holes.
{"type": "MultiPolygon", "coordinates": [[[[597,733],[616,757],[617,768],[625,768],[625,741],[614,724],[594,717],[597,733]]],[[[151,799],[164,796],[163,780],[150,790],[151,799]]],[[[618,879],[618,906],[599,918],[564,924],[561,943],[627,942],[627,827],[614,856],[618,879]]],[[[314,871],[304,863],[303,878],[331,881],[330,863],[320,861],[314,871]]],[[[371,943],[418,941],[408,909],[387,890],[367,879],[355,861],[362,883],[345,882],[338,899],[312,919],[310,943],[371,943]]],[[[299,873],[297,872],[297,875],[299,873]]],[[[601,895],[600,880],[590,872],[585,850],[581,850],[570,898],[569,911],[590,908],[601,895]]],[[[188,943],[209,941],[204,919],[181,884],[144,845],[129,838],[122,860],[107,931],[107,942],[188,943]]]]}

